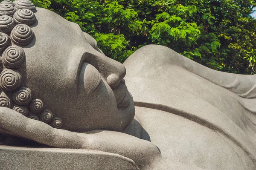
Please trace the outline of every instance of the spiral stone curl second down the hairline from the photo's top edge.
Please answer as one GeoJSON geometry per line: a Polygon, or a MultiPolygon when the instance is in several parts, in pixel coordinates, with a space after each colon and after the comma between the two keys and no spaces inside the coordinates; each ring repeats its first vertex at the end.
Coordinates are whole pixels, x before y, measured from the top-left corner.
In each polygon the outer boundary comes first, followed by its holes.
{"type": "Polygon", "coordinates": [[[13,19],[16,23],[23,23],[26,25],[33,25],[35,23],[35,14],[29,9],[19,9],[13,15],[13,19]]]}

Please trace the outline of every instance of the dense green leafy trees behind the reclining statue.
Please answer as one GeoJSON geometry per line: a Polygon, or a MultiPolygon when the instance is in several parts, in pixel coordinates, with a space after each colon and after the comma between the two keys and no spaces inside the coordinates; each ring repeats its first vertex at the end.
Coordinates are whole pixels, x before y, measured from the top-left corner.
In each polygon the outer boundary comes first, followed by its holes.
{"type": "Polygon", "coordinates": [[[123,62],[160,44],[209,68],[256,73],[256,0],[32,0],[78,23],[123,62]]]}

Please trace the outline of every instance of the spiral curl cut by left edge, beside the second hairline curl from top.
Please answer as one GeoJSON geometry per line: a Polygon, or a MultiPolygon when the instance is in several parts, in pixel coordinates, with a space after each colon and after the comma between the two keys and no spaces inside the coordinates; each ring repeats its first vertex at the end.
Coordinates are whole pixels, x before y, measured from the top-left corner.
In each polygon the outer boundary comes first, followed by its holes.
{"type": "Polygon", "coordinates": [[[0,32],[9,34],[15,27],[15,22],[8,15],[0,16],[0,32]]]}

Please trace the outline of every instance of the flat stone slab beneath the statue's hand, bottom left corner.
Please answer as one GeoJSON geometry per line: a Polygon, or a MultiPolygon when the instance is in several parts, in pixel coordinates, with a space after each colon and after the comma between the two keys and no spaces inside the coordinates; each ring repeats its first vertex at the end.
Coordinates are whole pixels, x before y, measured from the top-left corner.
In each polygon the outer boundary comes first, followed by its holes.
{"type": "Polygon", "coordinates": [[[0,146],[0,151],[1,170],[139,170],[129,158],[93,150],[0,146]]]}

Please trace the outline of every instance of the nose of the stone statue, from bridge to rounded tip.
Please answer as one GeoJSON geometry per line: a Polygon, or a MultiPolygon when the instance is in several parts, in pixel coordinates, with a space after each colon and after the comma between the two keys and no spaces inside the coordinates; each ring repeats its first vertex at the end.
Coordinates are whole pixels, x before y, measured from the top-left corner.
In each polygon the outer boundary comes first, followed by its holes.
{"type": "Polygon", "coordinates": [[[125,77],[126,69],[118,61],[108,58],[104,54],[94,50],[88,63],[92,64],[103,78],[107,81],[108,85],[114,89],[116,88],[122,78],[125,77]]]}

